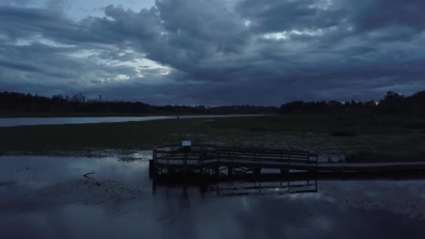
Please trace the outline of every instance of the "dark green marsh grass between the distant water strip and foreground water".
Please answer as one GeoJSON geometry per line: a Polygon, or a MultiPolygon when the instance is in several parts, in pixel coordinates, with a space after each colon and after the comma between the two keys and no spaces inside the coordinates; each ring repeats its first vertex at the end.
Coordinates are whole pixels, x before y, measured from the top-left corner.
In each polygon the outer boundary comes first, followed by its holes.
{"type": "Polygon", "coordinates": [[[192,140],[298,148],[331,161],[424,161],[424,119],[382,115],[276,115],[0,128],[0,154],[97,157],[192,140]]]}

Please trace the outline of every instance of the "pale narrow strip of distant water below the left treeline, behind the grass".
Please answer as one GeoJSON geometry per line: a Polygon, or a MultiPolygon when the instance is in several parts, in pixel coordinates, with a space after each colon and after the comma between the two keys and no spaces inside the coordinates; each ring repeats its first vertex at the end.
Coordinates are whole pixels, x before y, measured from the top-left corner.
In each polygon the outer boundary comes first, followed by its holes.
{"type": "MultiPolygon", "coordinates": [[[[217,118],[238,116],[261,116],[261,115],[180,115],[180,119],[192,118],[217,118]]],[[[40,125],[40,124],[89,124],[89,123],[113,123],[130,121],[149,121],[157,119],[176,119],[177,115],[168,116],[145,116],[145,117],[45,117],[45,118],[0,118],[0,127],[40,125]]]]}

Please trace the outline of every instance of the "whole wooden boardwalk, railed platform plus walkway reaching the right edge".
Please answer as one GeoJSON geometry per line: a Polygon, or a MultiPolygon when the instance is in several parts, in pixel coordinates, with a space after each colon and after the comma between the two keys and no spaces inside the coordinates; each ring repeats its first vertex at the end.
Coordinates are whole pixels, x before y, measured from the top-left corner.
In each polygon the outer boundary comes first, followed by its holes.
{"type": "Polygon", "coordinates": [[[394,173],[425,172],[425,162],[406,163],[319,163],[317,154],[302,150],[192,145],[168,145],[153,150],[150,178],[191,175],[234,178],[247,175],[294,172],[394,173]]]}

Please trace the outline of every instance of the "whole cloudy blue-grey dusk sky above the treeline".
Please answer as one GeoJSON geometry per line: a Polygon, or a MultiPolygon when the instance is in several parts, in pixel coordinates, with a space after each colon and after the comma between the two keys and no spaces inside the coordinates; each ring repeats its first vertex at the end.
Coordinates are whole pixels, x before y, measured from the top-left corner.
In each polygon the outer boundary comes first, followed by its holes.
{"type": "Polygon", "coordinates": [[[425,89],[423,0],[0,0],[0,92],[155,105],[425,89]]]}

